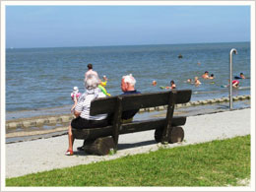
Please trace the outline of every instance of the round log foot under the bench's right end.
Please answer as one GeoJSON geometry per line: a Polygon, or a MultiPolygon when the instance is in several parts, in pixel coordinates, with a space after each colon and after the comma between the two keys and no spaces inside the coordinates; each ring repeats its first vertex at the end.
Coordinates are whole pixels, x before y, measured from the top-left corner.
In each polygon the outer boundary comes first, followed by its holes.
{"type": "MultiPolygon", "coordinates": [[[[163,128],[158,128],[155,131],[155,140],[157,143],[162,141],[162,131],[163,128]]],[[[182,127],[171,127],[171,132],[168,134],[167,141],[169,144],[174,144],[177,142],[182,142],[184,139],[184,130],[182,127]]]]}

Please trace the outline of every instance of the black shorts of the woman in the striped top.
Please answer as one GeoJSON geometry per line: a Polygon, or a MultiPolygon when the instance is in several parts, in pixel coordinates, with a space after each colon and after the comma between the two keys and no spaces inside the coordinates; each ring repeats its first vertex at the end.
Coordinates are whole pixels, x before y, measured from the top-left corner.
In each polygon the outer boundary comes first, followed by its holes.
{"type": "Polygon", "coordinates": [[[88,120],[79,116],[71,121],[71,127],[74,129],[89,129],[89,128],[96,128],[96,127],[104,127],[107,125],[108,125],[107,119],[88,120]]]}

